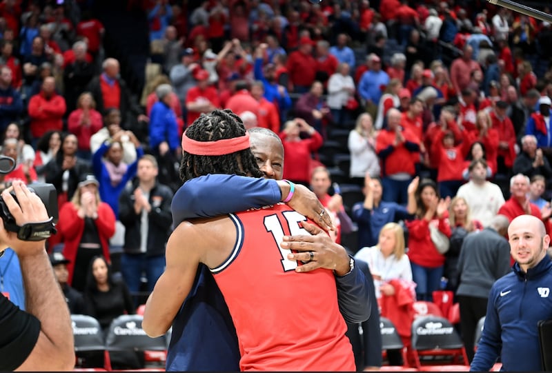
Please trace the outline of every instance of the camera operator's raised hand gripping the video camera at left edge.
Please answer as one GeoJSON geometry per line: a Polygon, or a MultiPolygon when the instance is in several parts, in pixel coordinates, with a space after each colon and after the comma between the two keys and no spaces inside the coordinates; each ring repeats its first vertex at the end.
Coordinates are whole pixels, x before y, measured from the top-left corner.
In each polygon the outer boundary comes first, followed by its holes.
{"type": "MultiPolygon", "coordinates": [[[[2,192],[2,198],[19,226],[26,223],[41,223],[50,219],[40,197],[30,192],[21,180],[14,180],[12,186],[2,192]],[[12,190],[19,204],[10,194],[12,190]]],[[[12,248],[20,257],[41,254],[44,251],[43,241],[21,241],[17,238],[17,233],[9,232],[4,228],[2,219],[0,219],[0,245],[2,250],[12,248]]]]}

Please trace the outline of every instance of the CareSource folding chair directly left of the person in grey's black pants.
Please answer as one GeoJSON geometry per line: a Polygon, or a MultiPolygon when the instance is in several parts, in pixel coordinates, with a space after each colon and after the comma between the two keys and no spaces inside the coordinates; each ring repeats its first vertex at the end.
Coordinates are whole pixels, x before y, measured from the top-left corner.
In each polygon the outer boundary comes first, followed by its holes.
{"type": "Polygon", "coordinates": [[[412,354],[418,370],[469,370],[464,344],[451,322],[444,317],[429,315],[414,319],[412,354]],[[422,365],[421,360],[430,365],[422,365]]]}

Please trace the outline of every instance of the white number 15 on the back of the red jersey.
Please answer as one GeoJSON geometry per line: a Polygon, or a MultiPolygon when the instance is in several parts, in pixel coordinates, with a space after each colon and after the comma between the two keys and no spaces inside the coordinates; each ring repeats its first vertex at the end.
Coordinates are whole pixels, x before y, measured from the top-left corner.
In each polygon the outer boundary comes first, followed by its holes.
{"type": "MultiPolygon", "coordinates": [[[[306,221],[305,216],[296,211],[284,211],[282,212],[282,215],[284,215],[284,218],[288,223],[288,230],[292,236],[297,234],[309,234],[306,230],[304,230],[304,228],[299,226],[300,221],[306,221]]],[[[280,255],[282,255],[282,268],[284,268],[284,272],[294,271],[295,268],[297,268],[297,261],[290,261],[288,259],[288,254],[291,254],[291,250],[280,247],[280,243],[284,241],[285,234],[284,228],[282,227],[282,223],[280,223],[277,214],[264,217],[264,228],[266,228],[266,232],[272,233],[276,246],[278,250],[280,250],[280,255]]]]}

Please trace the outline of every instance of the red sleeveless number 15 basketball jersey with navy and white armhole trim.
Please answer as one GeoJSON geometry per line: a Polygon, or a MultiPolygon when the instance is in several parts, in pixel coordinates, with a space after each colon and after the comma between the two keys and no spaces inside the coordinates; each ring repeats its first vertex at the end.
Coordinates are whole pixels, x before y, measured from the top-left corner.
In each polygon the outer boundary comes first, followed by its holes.
{"type": "Polygon", "coordinates": [[[230,214],[237,240],[211,271],[234,321],[240,370],[355,371],[331,270],[297,273],[288,234],[308,234],[287,205],[230,214]]]}

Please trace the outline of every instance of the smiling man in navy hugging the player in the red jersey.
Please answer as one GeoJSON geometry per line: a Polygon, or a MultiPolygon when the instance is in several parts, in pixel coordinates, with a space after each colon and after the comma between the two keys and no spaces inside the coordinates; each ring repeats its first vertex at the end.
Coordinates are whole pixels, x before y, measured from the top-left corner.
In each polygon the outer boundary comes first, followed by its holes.
{"type": "MultiPolygon", "coordinates": [[[[266,179],[210,174],[187,181],[172,200],[172,216],[175,225],[194,217],[228,214],[228,212],[260,208],[281,201],[277,183],[282,181],[276,180],[281,180],[283,174],[282,141],[277,134],[266,128],[252,128],[248,133],[251,151],[266,179]],[[274,192],[274,189],[277,191],[274,192]],[[233,198],[238,194],[239,199],[233,198]]],[[[288,184],[284,182],[284,185],[288,184]]],[[[296,188],[295,196],[288,205],[303,214],[314,212],[315,216],[319,217],[322,205],[317,197],[303,186],[296,185],[296,188]],[[310,205],[313,205],[311,210],[309,210],[310,205]]],[[[287,193],[284,194],[284,198],[286,195],[287,193]]],[[[324,219],[329,218],[329,214],[323,216],[324,219]]],[[[325,221],[319,224],[326,225],[325,221]]],[[[350,258],[341,245],[331,241],[328,234],[316,225],[304,223],[304,228],[313,235],[303,236],[301,238],[303,242],[294,242],[295,238],[289,241],[290,245],[300,245],[298,250],[304,252],[290,254],[297,255],[297,258],[289,259],[308,260],[309,252],[312,251],[316,260],[308,265],[302,265],[301,270],[342,268],[343,272],[335,272],[337,301],[339,310],[348,323],[365,321],[371,312],[377,313],[377,305],[370,301],[371,297],[375,298],[371,296],[373,290],[366,290],[370,288],[372,282],[366,281],[366,275],[359,270],[362,263],[358,265],[354,263],[353,270],[350,271],[350,258]],[[351,273],[347,274],[348,272],[351,273]],[[339,274],[346,275],[339,276],[339,274]]],[[[199,265],[197,272],[192,290],[172,323],[172,338],[168,348],[166,370],[175,372],[238,370],[237,336],[224,297],[205,265],[199,265]]],[[[379,334],[380,324],[379,322],[376,324],[379,334]]],[[[377,350],[377,355],[381,359],[381,347],[378,350],[377,341],[371,341],[370,345],[377,350]]]]}

